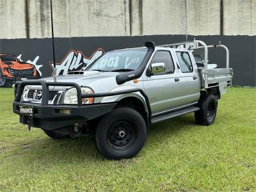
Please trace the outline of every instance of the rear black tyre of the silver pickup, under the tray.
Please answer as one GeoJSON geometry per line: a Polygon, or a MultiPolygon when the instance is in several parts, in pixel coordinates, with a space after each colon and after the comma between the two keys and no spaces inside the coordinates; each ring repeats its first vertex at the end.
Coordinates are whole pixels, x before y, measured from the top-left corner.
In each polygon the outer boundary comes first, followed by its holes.
{"type": "Polygon", "coordinates": [[[213,124],[218,107],[218,99],[214,95],[206,95],[199,102],[199,111],[195,112],[196,124],[211,125],[213,124]]]}

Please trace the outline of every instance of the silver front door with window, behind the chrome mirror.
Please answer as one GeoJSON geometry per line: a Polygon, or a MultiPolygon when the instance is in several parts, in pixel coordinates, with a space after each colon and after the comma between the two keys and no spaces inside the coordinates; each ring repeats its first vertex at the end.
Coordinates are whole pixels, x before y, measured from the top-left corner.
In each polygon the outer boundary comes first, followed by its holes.
{"type": "Polygon", "coordinates": [[[176,108],[179,105],[181,89],[180,83],[175,81],[175,78],[179,77],[180,74],[177,70],[177,65],[173,62],[173,55],[170,51],[156,51],[150,61],[150,65],[152,63],[164,63],[165,65],[164,72],[152,76],[143,74],[145,93],[148,96],[152,114],[154,115],[176,108]]]}

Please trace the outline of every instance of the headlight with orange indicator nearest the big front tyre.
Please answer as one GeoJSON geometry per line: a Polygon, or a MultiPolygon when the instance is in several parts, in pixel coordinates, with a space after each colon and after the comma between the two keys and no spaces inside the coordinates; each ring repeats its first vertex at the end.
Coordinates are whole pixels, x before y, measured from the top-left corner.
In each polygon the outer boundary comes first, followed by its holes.
{"type": "MultiPolygon", "coordinates": [[[[93,93],[93,90],[88,87],[81,87],[82,94],[93,93]]],[[[82,104],[92,104],[93,98],[82,99],[82,104]]],[[[77,91],[76,88],[70,88],[65,92],[63,104],[77,104],[77,91]]]]}

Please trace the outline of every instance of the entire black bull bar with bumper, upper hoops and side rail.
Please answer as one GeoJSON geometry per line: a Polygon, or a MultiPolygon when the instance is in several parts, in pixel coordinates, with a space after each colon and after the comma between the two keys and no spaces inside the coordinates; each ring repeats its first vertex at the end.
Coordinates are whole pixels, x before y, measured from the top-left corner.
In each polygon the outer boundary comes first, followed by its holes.
{"type": "MultiPolygon", "coordinates": [[[[106,93],[84,93],[81,92],[81,87],[77,83],[70,82],[47,82],[44,80],[27,80],[15,83],[15,100],[13,102],[13,113],[20,115],[20,122],[27,124],[29,127],[40,127],[42,129],[58,129],[72,124],[87,122],[94,118],[100,117],[111,112],[116,102],[88,104],[83,105],[83,98],[109,97],[113,95],[122,95],[126,93],[140,92],[145,97],[148,109],[148,122],[150,122],[151,109],[147,95],[139,88],[106,92],[106,93]],[[40,104],[31,102],[20,102],[22,93],[26,85],[42,86],[42,99],[40,104]],[[74,87],[77,90],[77,105],[49,105],[49,86],[74,87]],[[20,105],[33,106],[33,115],[26,116],[20,113],[20,105]],[[60,109],[69,109],[69,114],[60,113],[60,109]]],[[[29,114],[30,115],[30,114],[29,114]]]]}

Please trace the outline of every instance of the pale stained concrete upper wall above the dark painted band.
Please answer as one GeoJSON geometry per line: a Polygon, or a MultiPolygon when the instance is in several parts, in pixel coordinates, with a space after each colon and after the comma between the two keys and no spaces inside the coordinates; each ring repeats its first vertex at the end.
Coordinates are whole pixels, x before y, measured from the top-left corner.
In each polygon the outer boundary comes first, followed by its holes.
{"type": "MultiPolygon", "coordinates": [[[[220,35],[221,0],[52,0],[54,35],[220,35]]],[[[50,0],[0,0],[1,38],[51,36],[50,0]]],[[[256,0],[223,0],[223,35],[256,35],[256,0]]]]}

